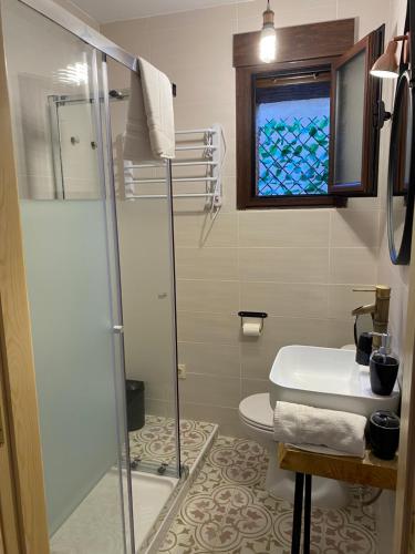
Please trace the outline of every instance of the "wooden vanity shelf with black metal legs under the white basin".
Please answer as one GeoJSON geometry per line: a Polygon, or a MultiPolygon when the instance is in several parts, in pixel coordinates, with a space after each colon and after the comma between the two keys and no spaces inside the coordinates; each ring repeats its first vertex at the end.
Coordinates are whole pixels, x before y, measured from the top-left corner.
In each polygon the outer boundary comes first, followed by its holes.
{"type": "Polygon", "coordinates": [[[278,461],[283,470],[295,472],[291,554],[300,554],[302,515],[304,515],[302,552],[310,554],[313,475],[376,489],[396,489],[397,456],[391,461],[380,460],[370,450],[366,450],[364,458],[360,459],[307,452],[280,443],[278,445],[278,461]]]}

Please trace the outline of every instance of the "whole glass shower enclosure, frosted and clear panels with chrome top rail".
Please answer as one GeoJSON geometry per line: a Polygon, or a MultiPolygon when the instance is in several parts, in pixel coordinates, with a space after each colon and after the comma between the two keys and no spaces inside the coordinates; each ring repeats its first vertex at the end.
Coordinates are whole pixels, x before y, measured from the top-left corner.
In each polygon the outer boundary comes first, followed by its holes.
{"type": "Polygon", "coordinates": [[[169,166],[125,195],[108,75],[134,57],[50,0],[0,6],[51,551],[145,552],[180,479],[169,166]]]}

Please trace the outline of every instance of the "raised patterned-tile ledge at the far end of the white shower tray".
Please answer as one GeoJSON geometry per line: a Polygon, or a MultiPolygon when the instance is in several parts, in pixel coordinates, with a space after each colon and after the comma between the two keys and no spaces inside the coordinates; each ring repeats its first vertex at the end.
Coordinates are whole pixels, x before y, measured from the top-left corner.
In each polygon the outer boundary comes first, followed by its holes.
{"type": "MultiPolygon", "coordinates": [[[[180,421],[181,463],[191,468],[209,437],[214,423],[204,421],[180,421]]],[[[146,416],[145,425],[129,432],[131,456],[157,463],[176,462],[176,423],[174,419],[146,416]]]]}

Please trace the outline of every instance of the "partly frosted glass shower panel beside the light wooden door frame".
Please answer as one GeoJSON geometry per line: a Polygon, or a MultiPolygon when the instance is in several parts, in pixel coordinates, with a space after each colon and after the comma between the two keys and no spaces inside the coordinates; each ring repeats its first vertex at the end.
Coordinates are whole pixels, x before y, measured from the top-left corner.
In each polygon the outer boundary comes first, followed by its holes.
{"type": "Polygon", "coordinates": [[[51,550],[131,552],[101,53],[15,0],[3,7],[51,550]]]}

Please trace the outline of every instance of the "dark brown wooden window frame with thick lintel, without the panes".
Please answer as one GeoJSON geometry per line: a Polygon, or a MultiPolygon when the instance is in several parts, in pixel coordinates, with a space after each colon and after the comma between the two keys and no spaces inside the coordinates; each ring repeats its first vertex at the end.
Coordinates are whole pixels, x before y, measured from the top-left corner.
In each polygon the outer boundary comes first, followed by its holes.
{"type": "MultiPolygon", "coordinates": [[[[234,66],[236,68],[237,90],[238,209],[345,206],[347,196],[362,195],[361,192],[355,189],[352,193],[343,189],[339,194],[329,192],[328,195],[257,196],[255,177],[256,148],[255,140],[252,140],[256,113],[253,80],[258,75],[301,73],[304,71],[318,71],[319,68],[321,70],[322,68],[326,69],[328,65],[330,68],[336,66],[336,62],[342,59],[344,53],[355,47],[354,30],[354,19],[278,29],[278,59],[274,63],[270,64],[262,63],[259,60],[259,32],[234,35],[234,66]]],[[[371,57],[374,55],[375,51],[375,44],[371,43],[371,57]]],[[[370,63],[369,58],[366,59],[366,64],[370,63]]],[[[332,105],[333,102],[331,101],[332,105]]],[[[330,140],[330,157],[332,147],[332,140],[330,140]]],[[[375,152],[377,150],[378,144],[375,152]]],[[[329,182],[331,170],[329,167],[329,182]]],[[[367,193],[363,194],[367,195],[367,193]]]]}

